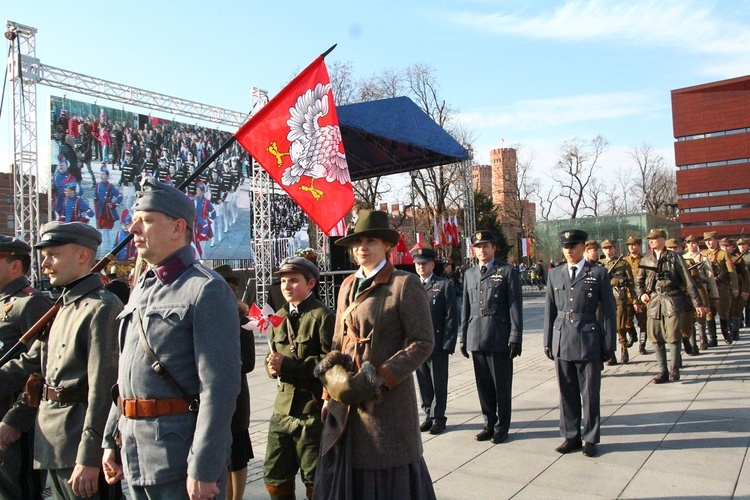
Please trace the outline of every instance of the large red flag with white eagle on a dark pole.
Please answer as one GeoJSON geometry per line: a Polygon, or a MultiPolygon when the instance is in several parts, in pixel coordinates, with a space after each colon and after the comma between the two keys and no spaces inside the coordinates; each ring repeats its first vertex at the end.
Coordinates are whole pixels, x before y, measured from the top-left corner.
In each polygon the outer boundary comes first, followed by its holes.
{"type": "Polygon", "coordinates": [[[234,135],[326,234],[354,206],[354,190],[323,56],[234,135]]]}

